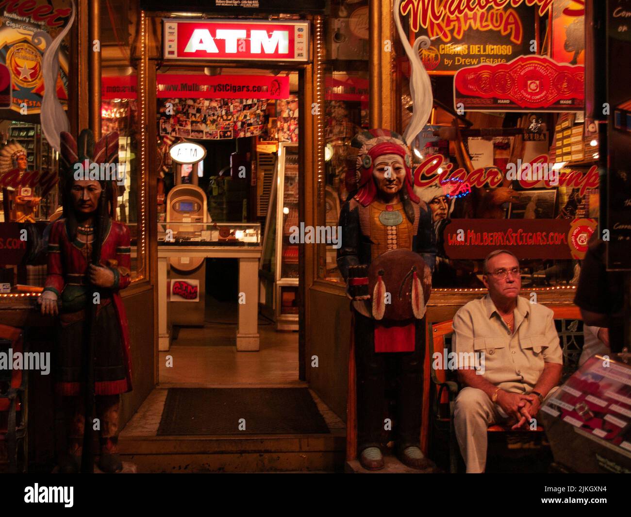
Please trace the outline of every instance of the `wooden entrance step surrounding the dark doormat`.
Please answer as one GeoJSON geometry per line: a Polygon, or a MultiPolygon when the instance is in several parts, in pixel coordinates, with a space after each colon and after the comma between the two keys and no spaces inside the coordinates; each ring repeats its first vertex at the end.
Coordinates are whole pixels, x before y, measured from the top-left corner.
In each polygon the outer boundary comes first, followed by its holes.
{"type": "Polygon", "coordinates": [[[122,460],[141,473],[342,472],[345,424],[310,389],[309,394],[326,422],[327,429],[321,431],[326,432],[175,436],[159,434],[168,389],[156,388],[122,430],[119,451],[122,460]]]}

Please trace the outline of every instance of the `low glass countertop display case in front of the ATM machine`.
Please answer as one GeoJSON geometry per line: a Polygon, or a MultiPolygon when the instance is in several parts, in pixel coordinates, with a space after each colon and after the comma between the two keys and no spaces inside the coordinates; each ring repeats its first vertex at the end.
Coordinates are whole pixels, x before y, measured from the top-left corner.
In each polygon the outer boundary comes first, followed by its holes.
{"type": "Polygon", "coordinates": [[[259,223],[158,223],[158,246],[261,246],[259,223]]]}

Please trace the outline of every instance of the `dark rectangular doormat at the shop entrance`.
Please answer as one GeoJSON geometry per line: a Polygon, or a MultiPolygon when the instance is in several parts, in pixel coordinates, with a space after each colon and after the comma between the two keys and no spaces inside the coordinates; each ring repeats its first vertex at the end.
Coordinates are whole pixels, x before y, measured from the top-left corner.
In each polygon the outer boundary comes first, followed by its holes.
{"type": "Polygon", "coordinates": [[[327,432],[307,388],[169,388],[158,427],[158,436],[327,432]]]}

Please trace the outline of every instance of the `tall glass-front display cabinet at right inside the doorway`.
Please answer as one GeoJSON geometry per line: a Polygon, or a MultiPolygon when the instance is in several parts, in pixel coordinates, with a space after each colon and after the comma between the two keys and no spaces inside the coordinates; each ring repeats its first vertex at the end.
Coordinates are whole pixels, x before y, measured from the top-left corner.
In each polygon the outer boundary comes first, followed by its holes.
{"type": "Polygon", "coordinates": [[[277,163],[259,273],[262,311],[277,330],[298,330],[298,242],[290,239],[298,227],[298,145],[280,143],[277,163]]]}

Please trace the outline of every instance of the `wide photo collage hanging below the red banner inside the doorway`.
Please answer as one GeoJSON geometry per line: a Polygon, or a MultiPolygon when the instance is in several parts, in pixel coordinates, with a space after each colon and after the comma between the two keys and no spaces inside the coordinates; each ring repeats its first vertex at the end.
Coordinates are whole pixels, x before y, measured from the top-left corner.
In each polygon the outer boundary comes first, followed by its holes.
{"type": "Polygon", "coordinates": [[[266,99],[158,99],[161,135],[221,140],[260,134],[265,123],[266,99]],[[167,104],[173,105],[167,115],[167,104]]]}

